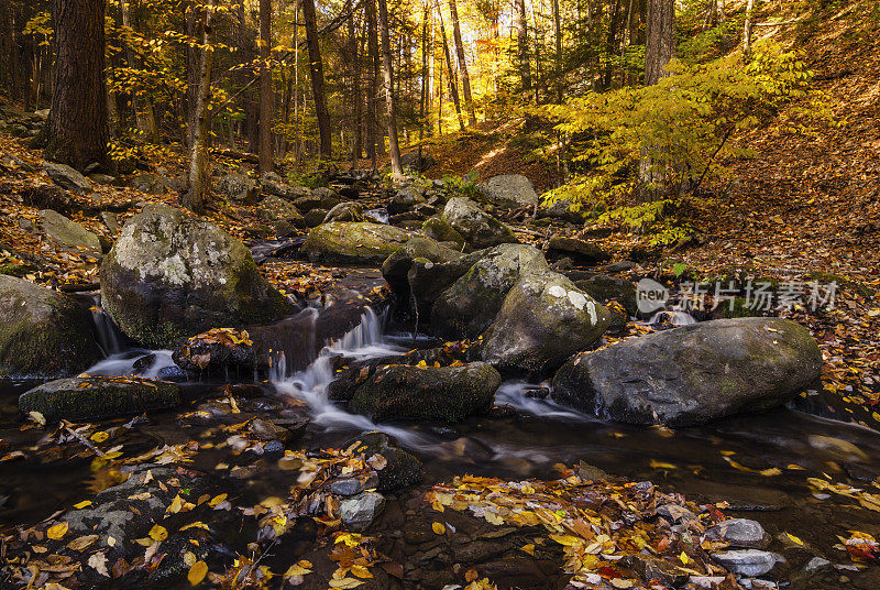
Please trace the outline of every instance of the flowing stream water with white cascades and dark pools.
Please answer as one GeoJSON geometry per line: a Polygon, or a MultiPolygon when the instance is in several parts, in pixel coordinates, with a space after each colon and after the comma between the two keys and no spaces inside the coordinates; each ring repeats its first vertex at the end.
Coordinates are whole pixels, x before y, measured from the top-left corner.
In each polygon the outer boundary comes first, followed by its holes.
{"type": "MultiPolygon", "coordinates": [[[[300,315],[307,315],[305,319],[314,326],[315,317],[321,313],[308,308],[300,315]]],[[[110,332],[102,336],[105,346],[118,352],[87,371],[89,374],[131,373],[136,360],[150,352],[120,351],[124,347],[110,332]]],[[[848,531],[880,535],[880,513],[848,498],[814,493],[806,481],[824,473],[834,482],[871,490],[870,482],[880,474],[880,434],[792,408],[673,431],[603,422],[536,398],[532,395],[539,384],[519,381],[503,383],[496,394],[496,406],[501,408],[455,425],[377,425],[328,400],[334,356],[403,353],[413,348],[414,341],[422,340],[428,341],[413,335],[388,334],[385,315],[365,307],[361,323],[328,342],[317,358],[312,354],[314,360],[305,369],[276,365],[271,383],[264,384],[275,394],[256,402],[255,407],[260,415],[273,418],[289,414],[290,401],[305,403],[311,423],[300,445],[307,448],[338,447],[361,431],[383,430],[421,459],[428,485],[463,473],[552,478],[554,465],[583,461],[612,476],[650,480],[697,502],[728,502],[729,514],[759,521],[774,538],[784,537],[785,533],[800,538],[803,547],[788,543],[789,548],[782,551],[791,564],[818,555],[851,567],[847,556],[834,548],[837,535],[846,538],[848,531]]],[[[174,367],[170,351],[152,353],[155,359],[143,374],[161,379],[174,367]]],[[[45,435],[40,429],[20,430],[16,396],[32,385],[0,383],[0,438],[10,448],[26,448],[45,435]]],[[[182,416],[191,412],[194,404],[202,403],[206,393],[216,395],[218,385],[188,384],[187,391],[190,403],[174,412],[152,414],[148,423],[131,429],[122,442],[125,455],[135,456],[198,436],[198,427],[182,428],[182,416]]],[[[210,452],[199,454],[195,467],[210,470],[216,461],[210,452]]],[[[92,472],[89,463],[85,459],[45,458],[0,463],[2,528],[44,518],[106,487],[101,473],[92,472]]],[[[288,478],[287,473],[270,469],[249,479],[245,488],[255,498],[277,495],[278,490],[285,490],[288,478]]],[[[419,490],[424,491],[417,488],[415,493],[419,490]]],[[[838,570],[832,575],[836,582],[828,588],[880,588],[880,576],[873,569],[838,570]]]]}

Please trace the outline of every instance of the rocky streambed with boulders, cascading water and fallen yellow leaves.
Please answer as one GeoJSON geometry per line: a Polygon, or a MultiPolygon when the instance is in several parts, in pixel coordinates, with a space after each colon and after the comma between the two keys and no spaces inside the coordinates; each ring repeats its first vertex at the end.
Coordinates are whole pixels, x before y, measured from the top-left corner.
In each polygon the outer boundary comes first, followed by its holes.
{"type": "Polygon", "coordinates": [[[809,330],[636,336],[591,242],[437,186],[385,207],[252,253],[148,206],[98,324],[0,277],[4,587],[877,587],[880,437],[794,409],[809,330]],[[356,267],[293,301],[258,267],[290,255],[356,267]]]}

